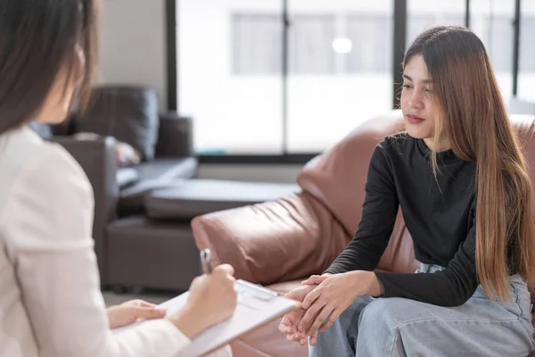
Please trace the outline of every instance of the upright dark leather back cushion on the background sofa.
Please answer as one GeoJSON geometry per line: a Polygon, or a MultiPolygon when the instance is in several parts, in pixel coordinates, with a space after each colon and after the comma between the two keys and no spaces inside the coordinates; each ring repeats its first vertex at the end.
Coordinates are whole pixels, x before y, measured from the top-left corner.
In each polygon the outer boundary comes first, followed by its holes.
{"type": "Polygon", "coordinates": [[[160,115],[156,91],[144,87],[97,87],[76,132],[111,136],[128,143],[144,160],[154,158],[160,115]]]}

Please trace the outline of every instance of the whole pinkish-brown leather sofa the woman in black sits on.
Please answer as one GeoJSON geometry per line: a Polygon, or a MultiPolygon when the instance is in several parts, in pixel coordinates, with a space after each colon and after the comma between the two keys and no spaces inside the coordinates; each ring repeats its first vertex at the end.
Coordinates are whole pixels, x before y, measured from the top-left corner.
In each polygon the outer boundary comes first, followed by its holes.
{"type": "MultiPolygon", "coordinates": [[[[535,117],[513,116],[511,120],[535,178],[535,117]]],[[[210,248],[215,264],[232,264],[237,278],[282,294],[299,286],[300,278],[321,273],[358,228],[374,146],[399,132],[401,125],[399,111],[366,121],[301,170],[298,195],[195,218],[192,227],[198,247],[210,248]]],[[[378,269],[414,272],[417,265],[412,239],[399,214],[378,269]]],[[[235,356],[307,356],[307,347],[288,342],[278,332],[278,322],[235,341],[235,356]]]]}

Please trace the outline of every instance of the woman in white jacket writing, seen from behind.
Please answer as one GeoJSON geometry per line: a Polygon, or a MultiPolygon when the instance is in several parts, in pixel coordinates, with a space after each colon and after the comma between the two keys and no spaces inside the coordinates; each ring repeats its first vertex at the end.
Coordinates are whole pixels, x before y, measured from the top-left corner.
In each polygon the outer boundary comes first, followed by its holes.
{"type": "Polygon", "coordinates": [[[98,0],[0,1],[2,356],[173,357],[235,311],[230,266],[196,278],[185,308],[167,318],[139,301],[105,308],[92,189],[70,154],[28,125],[59,123],[70,104],[87,103],[99,9],[98,0]],[[111,333],[138,319],[150,321],[111,333]]]}

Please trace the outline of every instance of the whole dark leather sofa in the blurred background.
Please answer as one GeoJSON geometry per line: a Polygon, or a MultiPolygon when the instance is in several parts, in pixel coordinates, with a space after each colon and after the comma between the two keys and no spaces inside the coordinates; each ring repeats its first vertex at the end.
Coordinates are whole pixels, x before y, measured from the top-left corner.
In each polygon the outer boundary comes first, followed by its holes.
{"type": "Polygon", "coordinates": [[[192,121],[161,112],[150,88],[106,86],[95,88],[83,116],[75,113],[52,129],[33,123],[72,154],[93,187],[104,289],[187,290],[202,272],[193,217],[299,191],[297,185],[197,179],[192,121]],[[134,147],[142,162],[120,167],[119,142],[134,147]]]}

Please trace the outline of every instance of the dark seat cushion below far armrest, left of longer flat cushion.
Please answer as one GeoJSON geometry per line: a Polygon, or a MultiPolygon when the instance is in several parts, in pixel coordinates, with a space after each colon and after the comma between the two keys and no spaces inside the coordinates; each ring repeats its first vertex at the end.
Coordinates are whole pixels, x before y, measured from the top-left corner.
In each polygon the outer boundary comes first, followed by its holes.
{"type": "Polygon", "coordinates": [[[156,159],[135,166],[136,184],[119,194],[119,214],[126,216],[144,212],[144,196],[154,189],[182,185],[197,174],[198,162],[193,157],[183,159],[156,159]]]}

